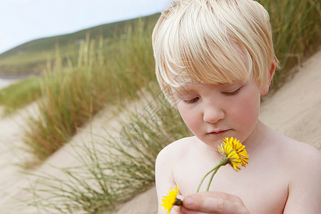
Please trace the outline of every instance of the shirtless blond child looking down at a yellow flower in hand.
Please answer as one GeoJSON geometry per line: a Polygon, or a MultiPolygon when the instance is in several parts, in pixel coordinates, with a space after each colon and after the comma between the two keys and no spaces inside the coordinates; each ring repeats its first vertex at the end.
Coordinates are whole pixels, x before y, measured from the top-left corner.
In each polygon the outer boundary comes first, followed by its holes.
{"type": "Polygon", "coordinates": [[[183,205],[171,213],[321,213],[320,152],[258,120],[278,67],[263,6],[178,0],[156,24],[153,51],[161,89],[194,135],[158,154],[158,213],[175,185],[183,205]],[[248,165],[238,173],[220,168],[209,191],[195,193],[226,137],[245,145],[248,165]]]}

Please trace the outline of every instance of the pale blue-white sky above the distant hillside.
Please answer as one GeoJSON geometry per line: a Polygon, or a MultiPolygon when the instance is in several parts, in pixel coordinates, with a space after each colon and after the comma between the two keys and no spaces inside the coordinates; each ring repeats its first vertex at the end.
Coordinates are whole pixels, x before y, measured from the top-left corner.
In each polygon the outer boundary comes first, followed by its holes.
{"type": "Polygon", "coordinates": [[[170,0],[0,0],[0,54],[27,41],[155,14],[170,0]]]}

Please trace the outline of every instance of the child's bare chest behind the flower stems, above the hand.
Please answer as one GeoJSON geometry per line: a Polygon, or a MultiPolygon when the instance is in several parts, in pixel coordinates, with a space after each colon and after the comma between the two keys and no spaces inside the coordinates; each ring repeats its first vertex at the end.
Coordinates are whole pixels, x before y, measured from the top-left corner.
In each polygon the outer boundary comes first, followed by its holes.
{"type": "MultiPolygon", "coordinates": [[[[203,175],[214,166],[201,161],[176,165],[173,173],[175,183],[180,185],[180,193],[195,193],[203,175]]],[[[210,191],[238,195],[250,213],[282,213],[287,200],[287,180],[282,169],[276,165],[268,167],[270,168],[262,170],[248,165],[237,173],[229,165],[225,165],[215,174],[210,191]]],[[[205,191],[209,180],[210,176],[205,178],[200,192],[205,191]]]]}

